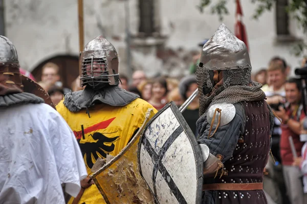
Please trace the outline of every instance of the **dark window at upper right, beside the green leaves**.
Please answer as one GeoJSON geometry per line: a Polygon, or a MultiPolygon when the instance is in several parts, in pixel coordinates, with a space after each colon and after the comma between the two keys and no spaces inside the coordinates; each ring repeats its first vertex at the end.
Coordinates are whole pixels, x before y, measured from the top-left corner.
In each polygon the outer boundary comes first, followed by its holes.
{"type": "Polygon", "coordinates": [[[290,35],[289,14],[286,11],[288,0],[276,0],[276,32],[277,35],[290,35]]]}

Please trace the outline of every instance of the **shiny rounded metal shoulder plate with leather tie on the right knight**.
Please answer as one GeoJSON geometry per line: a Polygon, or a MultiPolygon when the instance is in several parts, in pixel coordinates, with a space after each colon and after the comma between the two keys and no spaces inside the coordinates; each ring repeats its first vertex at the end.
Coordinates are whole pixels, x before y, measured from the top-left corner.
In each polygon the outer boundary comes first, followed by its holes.
{"type": "MultiPolygon", "coordinates": [[[[235,116],[234,105],[229,104],[229,103],[217,103],[217,104],[210,106],[210,108],[207,112],[207,121],[208,121],[209,124],[211,124],[211,122],[212,122],[212,118],[214,116],[214,112],[215,112],[216,108],[221,109],[222,116],[221,116],[220,126],[227,125],[228,123],[230,123],[232,121],[232,119],[235,116]]],[[[220,117],[220,112],[216,111],[214,123],[213,123],[214,126],[216,126],[217,123],[218,123],[218,117],[220,117]]]]}

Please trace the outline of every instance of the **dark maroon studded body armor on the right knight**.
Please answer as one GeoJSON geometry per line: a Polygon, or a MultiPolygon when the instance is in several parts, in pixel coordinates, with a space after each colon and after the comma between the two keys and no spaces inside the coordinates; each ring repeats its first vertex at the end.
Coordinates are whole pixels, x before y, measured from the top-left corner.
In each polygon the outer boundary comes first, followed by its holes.
{"type": "MultiPolygon", "coordinates": [[[[235,117],[235,123],[230,123],[226,133],[219,129],[214,140],[220,140],[219,145],[207,140],[205,143],[216,157],[224,163],[224,173],[215,178],[204,180],[205,185],[210,184],[259,184],[262,185],[264,168],[268,162],[270,151],[270,134],[272,129],[272,114],[267,103],[262,101],[242,102],[235,105],[242,115],[235,117]],[[239,119],[238,119],[239,118],[239,119]],[[240,126],[240,130],[236,126],[240,126]],[[240,132],[238,136],[233,130],[240,132]],[[221,139],[221,135],[225,135],[221,139]],[[224,141],[226,141],[224,143],[224,141]],[[223,146],[223,147],[222,147],[223,146]],[[226,150],[225,150],[226,149],[226,150]]],[[[206,121],[204,122],[206,125],[206,121]]],[[[227,126],[227,125],[226,125],[227,126]]],[[[206,134],[206,131],[205,131],[206,134]]],[[[244,187],[243,187],[244,188],[244,187]]],[[[206,190],[204,203],[215,198],[215,203],[267,203],[262,190],[206,190]]]]}

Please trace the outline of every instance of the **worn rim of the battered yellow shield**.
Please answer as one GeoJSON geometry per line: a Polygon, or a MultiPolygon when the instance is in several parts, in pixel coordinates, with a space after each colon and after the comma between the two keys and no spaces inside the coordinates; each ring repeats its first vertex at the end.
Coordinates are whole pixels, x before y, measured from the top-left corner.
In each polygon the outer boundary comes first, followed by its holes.
{"type": "MultiPolygon", "coordinates": [[[[145,120],[144,120],[142,126],[140,127],[140,129],[139,129],[139,130],[137,131],[137,133],[135,134],[135,136],[136,136],[137,134],[140,134],[140,140],[141,140],[141,137],[142,137],[142,133],[143,133],[143,131],[144,131],[145,128],[146,128],[145,124],[147,124],[147,123],[150,121],[150,114],[151,114],[151,112],[153,112],[153,114],[155,114],[152,108],[148,108],[148,109],[146,110],[146,113],[145,113],[145,120]],[[148,113],[148,116],[147,116],[147,113],[148,113]]],[[[153,116],[153,117],[154,117],[154,116],[153,116]]],[[[96,187],[98,188],[98,190],[99,190],[100,194],[102,195],[102,197],[103,197],[104,201],[106,202],[106,204],[111,204],[111,202],[110,202],[109,199],[107,198],[107,196],[106,196],[105,192],[103,191],[102,187],[99,185],[96,176],[97,176],[98,174],[100,174],[102,171],[106,170],[109,166],[111,166],[112,164],[114,164],[116,161],[118,161],[119,158],[129,149],[129,147],[131,147],[131,146],[136,142],[136,140],[137,140],[136,138],[137,138],[137,137],[134,137],[134,138],[133,138],[133,139],[132,139],[132,140],[131,140],[131,141],[130,141],[130,142],[119,152],[119,154],[117,154],[109,163],[107,163],[106,165],[104,165],[102,168],[100,168],[98,171],[96,171],[95,173],[93,173],[93,174],[91,175],[91,177],[92,177],[92,179],[93,179],[93,181],[94,181],[96,187]],[[120,156],[119,156],[119,155],[120,155],[120,156]]],[[[140,142],[140,140],[139,140],[139,142],[140,142]]],[[[139,155],[139,148],[138,148],[138,155],[139,155]]],[[[138,157],[138,158],[139,158],[139,157],[138,157]]],[[[139,168],[139,165],[138,165],[138,168],[139,168]]],[[[141,176],[141,177],[142,177],[142,179],[144,180],[144,182],[146,182],[145,179],[143,178],[143,176],[141,176]]],[[[146,184],[147,184],[147,183],[146,183],[146,184]]],[[[148,185],[147,185],[147,186],[148,186],[148,185]]],[[[148,189],[149,189],[149,187],[148,187],[148,189]]],[[[149,189],[149,190],[150,190],[150,189],[149,189]]],[[[150,192],[151,192],[151,191],[150,191],[150,192]]]]}

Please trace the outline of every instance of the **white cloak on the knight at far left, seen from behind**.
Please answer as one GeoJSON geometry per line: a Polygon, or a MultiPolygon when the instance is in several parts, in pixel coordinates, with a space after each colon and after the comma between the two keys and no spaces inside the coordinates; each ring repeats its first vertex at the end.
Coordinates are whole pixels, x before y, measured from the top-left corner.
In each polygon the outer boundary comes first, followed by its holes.
{"type": "Polygon", "coordinates": [[[0,109],[0,203],[65,203],[87,175],[79,145],[51,106],[0,109]]]}

